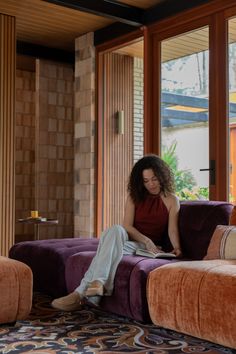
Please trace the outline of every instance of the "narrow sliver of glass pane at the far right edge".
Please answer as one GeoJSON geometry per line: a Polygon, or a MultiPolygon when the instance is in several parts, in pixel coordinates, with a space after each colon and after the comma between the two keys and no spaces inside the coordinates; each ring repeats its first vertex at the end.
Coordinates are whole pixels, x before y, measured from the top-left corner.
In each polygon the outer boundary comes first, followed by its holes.
{"type": "Polygon", "coordinates": [[[236,201],[236,18],[228,22],[229,201],[236,201]]]}

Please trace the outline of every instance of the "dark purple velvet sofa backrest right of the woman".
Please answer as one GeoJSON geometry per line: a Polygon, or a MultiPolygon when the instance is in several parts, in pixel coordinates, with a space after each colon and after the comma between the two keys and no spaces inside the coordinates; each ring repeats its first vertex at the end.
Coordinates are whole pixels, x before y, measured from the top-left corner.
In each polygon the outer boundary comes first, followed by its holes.
{"type": "Polygon", "coordinates": [[[202,259],[217,225],[228,225],[233,205],[219,201],[181,201],[179,232],[184,258],[202,259]]]}

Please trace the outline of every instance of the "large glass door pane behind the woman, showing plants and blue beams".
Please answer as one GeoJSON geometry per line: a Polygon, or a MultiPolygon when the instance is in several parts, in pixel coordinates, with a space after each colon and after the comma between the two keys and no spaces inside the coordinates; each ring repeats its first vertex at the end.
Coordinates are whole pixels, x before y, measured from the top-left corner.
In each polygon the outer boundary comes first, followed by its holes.
{"type": "Polygon", "coordinates": [[[161,43],[161,152],[180,199],[209,199],[209,29],[161,43]]]}

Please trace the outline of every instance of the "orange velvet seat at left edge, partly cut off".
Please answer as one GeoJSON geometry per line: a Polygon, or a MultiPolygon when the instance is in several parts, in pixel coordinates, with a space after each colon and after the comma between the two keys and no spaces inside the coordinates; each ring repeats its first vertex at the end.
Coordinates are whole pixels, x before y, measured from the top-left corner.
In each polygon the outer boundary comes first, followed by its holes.
{"type": "Polygon", "coordinates": [[[33,275],[24,263],[0,256],[0,324],[25,319],[32,307],[33,275]]]}

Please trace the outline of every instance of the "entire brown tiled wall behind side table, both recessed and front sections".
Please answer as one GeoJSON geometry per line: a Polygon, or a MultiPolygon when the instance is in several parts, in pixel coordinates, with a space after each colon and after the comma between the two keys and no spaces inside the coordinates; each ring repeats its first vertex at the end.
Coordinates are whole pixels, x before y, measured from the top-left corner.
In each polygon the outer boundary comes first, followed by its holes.
{"type": "MultiPolygon", "coordinates": [[[[39,210],[58,225],[40,238],[74,235],[74,71],[44,60],[16,75],[16,221],[39,210]]],[[[16,242],[33,239],[34,226],[16,222],[16,242]]]]}

